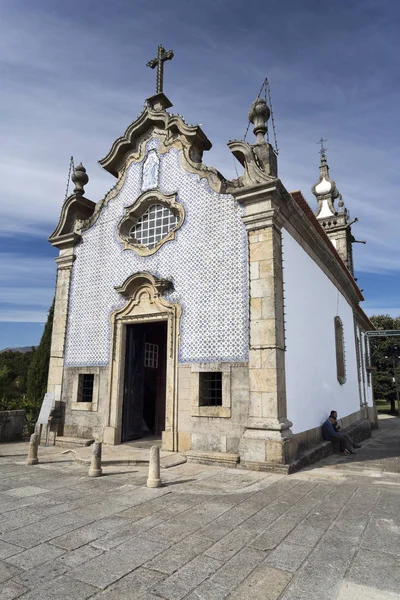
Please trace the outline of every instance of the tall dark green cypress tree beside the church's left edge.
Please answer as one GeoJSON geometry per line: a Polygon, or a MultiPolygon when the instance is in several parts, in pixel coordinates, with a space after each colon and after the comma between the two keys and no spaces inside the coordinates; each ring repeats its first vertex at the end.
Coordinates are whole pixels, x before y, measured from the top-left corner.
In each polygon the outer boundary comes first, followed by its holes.
{"type": "Polygon", "coordinates": [[[54,300],[43,331],[40,344],[32,357],[27,378],[28,402],[40,408],[47,389],[47,376],[50,363],[51,333],[53,330],[54,300]]]}

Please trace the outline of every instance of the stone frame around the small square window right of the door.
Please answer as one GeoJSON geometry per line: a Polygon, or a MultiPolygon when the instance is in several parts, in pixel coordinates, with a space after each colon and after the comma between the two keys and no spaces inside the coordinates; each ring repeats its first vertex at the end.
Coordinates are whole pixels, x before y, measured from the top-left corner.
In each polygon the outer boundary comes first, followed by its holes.
{"type": "Polygon", "coordinates": [[[198,363],[191,367],[191,415],[192,417],[231,417],[231,365],[224,363],[198,363]],[[200,406],[200,373],[222,373],[222,406],[200,406]]]}

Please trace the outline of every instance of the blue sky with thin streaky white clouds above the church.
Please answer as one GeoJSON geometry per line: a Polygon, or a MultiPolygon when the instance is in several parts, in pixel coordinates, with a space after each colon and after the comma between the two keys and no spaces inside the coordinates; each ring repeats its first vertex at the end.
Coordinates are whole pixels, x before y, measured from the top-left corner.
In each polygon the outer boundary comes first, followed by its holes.
{"type": "Polygon", "coordinates": [[[266,76],[280,177],[313,207],[316,142],[328,139],[331,177],[368,242],[354,247],[363,308],[399,315],[399,22],[394,0],[0,0],[0,349],[39,342],[69,157],[98,201],[114,180],[97,160],[154,93],[146,62],[159,43],[175,52],[171,110],[202,124],[204,161],[226,177],[226,142],[243,137],[266,76]]]}

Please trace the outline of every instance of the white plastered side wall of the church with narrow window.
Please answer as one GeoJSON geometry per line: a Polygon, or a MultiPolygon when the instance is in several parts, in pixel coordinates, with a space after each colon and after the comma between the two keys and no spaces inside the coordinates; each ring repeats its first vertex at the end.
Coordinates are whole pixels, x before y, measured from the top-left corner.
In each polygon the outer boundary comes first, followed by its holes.
{"type": "Polygon", "coordinates": [[[285,230],[283,280],[287,416],[293,433],[320,426],[331,410],[360,410],[353,310],[314,260],[285,230]],[[336,373],[334,318],[343,323],[346,382],[336,373]]]}

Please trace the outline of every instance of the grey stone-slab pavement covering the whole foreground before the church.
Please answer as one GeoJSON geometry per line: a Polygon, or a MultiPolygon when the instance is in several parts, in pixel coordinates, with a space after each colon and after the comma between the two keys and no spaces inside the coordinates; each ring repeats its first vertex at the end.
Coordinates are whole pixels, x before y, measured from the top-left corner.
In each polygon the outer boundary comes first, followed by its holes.
{"type": "Polygon", "coordinates": [[[295,475],[0,445],[0,600],[400,598],[400,420],[295,475]]]}

